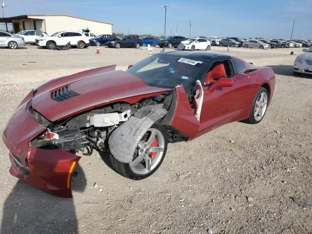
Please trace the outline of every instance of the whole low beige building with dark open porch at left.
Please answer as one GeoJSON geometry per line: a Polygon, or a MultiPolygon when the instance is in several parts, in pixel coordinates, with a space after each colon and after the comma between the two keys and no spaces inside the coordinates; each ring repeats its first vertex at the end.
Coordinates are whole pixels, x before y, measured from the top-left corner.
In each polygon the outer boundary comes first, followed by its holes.
{"type": "Polygon", "coordinates": [[[113,24],[67,15],[23,15],[0,18],[0,22],[12,23],[14,33],[21,30],[40,30],[51,35],[58,31],[78,31],[89,28],[90,32],[112,34],[113,24]]]}

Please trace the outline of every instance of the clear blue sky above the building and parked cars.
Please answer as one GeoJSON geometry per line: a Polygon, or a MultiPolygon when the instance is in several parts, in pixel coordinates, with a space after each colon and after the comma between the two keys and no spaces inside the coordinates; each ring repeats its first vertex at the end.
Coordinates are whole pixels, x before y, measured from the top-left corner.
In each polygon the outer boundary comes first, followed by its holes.
{"type": "MultiPolygon", "coordinates": [[[[312,0],[4,0],[4,16],[67,14],[130,34],[312,39],[312,0]],[[171,30],[171,31],[170,31],[171,30]]],[[[91,29],[92,30],[92,29],[91,29]]]]}

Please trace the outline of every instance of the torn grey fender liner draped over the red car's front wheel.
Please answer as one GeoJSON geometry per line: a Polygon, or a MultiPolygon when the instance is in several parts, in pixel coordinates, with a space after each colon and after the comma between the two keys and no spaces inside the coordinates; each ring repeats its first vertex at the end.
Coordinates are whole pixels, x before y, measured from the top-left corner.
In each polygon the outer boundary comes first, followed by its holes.
{"type": "Polygon", "coordinates": [[[112,133],[108,145],[114,158],[123,163],[132,162],[137,145],[144,134],[158,119],[167,114],[167,110],[160,106],[162,105],[139,109],[112,133]]]}

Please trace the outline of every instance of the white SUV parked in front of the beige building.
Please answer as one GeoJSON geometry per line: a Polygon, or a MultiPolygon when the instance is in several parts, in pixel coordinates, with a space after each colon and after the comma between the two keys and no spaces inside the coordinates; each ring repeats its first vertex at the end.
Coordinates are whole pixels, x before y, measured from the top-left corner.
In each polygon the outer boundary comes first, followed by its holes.
{"type": "Polygon", "coordinates": [[[73,31],[56,32],[49,37],[36,39],[38,46],[46,47],[50,50],[56,49],[57,46],[64,46],[68,42],[70,42],[71,46],[76,46],[78,49],[83,49],[90,45],[89,39],[85,35],[73,31]]]}

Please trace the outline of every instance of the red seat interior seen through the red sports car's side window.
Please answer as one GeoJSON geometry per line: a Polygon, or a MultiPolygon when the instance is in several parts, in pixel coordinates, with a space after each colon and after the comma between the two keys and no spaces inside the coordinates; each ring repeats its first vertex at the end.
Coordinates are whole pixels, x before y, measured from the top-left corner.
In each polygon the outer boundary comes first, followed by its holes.
{"type": "Polygon", "coordinates": [[[208,71],[204,85],[212,84],[220,78],[228,78],[233,75],[233,69],[230,61],[216,61],[208,71]]]}

